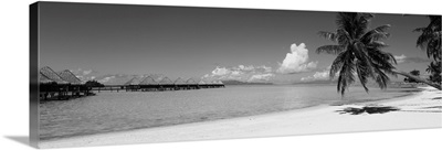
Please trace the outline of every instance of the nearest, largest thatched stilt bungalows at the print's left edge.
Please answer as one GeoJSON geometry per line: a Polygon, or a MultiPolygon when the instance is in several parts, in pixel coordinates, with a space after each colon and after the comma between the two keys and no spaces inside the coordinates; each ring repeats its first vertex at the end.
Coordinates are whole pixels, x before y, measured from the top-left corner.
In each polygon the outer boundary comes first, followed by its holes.
{"type": "Polygon", "coordinates": [[[93,95],[92,88],[83,84],[71,71],[54,72],[45,66],[39,75],[40,99],[70,99],[73,97],[93,95]]]}

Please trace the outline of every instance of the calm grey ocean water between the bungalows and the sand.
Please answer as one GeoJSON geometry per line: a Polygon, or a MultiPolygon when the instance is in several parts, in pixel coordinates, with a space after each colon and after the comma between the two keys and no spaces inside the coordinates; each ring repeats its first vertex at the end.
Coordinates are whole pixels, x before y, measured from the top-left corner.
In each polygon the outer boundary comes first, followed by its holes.
{"type": "Polygon", "coordinates": [[[322,104],[379,100],[410,89],[351,87],[343,98],[336,85],[227,86],[199,90],[97,93],[40,104],[40,139],[154,128],[301,109],[322,104]]]}

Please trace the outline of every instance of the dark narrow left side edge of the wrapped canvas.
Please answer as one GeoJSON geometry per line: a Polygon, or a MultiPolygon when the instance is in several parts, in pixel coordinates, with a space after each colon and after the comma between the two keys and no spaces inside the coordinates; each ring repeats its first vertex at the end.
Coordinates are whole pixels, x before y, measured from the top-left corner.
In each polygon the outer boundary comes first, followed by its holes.
{"type": "Polygon", "coordinates": [[[39,144],[39,2],[29,6],[29,143],[38,148],[39,144]]]}

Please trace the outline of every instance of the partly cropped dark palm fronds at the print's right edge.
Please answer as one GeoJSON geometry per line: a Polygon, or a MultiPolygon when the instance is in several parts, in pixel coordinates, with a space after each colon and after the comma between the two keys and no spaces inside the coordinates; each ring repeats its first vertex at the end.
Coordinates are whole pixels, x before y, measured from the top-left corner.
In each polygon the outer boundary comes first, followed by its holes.
{"type": "Polygon", "coordinates": [[[424,28],[414,29],[414,32],[422,32],[418,38],[417,46],[427,50],[428,57],[433,56],[436,62],[441,61],[441,15],[428,15],[430,23],[424,28]]]}

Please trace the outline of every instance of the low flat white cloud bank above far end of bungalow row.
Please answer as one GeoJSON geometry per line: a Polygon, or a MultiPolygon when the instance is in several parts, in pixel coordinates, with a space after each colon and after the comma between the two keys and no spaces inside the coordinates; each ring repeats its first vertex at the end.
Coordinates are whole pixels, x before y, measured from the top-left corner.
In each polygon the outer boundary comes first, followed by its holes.
{"type": "Polygon", "coordinates": [[[217,66],[210,74],[206,74],[201,79],[215,81],[215,79],[234,79],[241,82],[269,82],[274,77],[272,67],[261,65],[238,65],[233,67],[220,67],[217,66]]]}

